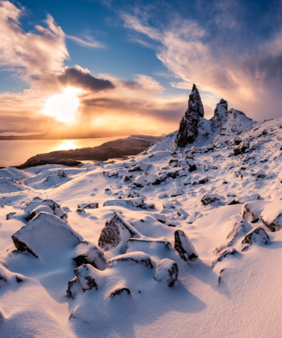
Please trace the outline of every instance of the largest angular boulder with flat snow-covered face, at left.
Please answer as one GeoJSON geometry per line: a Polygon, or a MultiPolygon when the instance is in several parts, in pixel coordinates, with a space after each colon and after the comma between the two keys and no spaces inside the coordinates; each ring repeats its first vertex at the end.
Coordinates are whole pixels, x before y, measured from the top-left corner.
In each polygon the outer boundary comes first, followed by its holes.
{"type": "Polygon", "coordinates": [[[13,234],[12,239],[18,251],[27,251],[42,259],[73,249],[82,241],[80,234],[50,213],[36,215],[13,234]]]}

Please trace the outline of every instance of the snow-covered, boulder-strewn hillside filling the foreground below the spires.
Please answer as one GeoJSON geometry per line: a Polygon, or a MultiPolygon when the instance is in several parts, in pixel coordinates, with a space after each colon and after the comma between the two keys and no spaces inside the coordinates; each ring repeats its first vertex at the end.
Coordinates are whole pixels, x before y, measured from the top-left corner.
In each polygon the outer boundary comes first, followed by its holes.
{"type": "Polygon", "coordinates": [[[0,170],[0,337],[281,337],[281,123],[0,170]]]}

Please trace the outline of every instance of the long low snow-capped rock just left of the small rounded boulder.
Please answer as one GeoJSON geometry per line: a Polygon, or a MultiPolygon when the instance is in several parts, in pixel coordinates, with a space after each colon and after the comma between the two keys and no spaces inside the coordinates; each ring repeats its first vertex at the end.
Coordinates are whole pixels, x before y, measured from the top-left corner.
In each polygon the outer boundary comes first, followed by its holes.
{"type": "Polygon", "coordinates": [[[124,253],[123,255],[116,256],[114,258],[111,258],[106,263],[106,268],[114,268],[117,265],[135,265],[140,264],[144,265],[147,268],[154,268],[152,265],[151,257],[147,255],[144,252],[141,251],[135,251],[130,253],[124,253]]]}

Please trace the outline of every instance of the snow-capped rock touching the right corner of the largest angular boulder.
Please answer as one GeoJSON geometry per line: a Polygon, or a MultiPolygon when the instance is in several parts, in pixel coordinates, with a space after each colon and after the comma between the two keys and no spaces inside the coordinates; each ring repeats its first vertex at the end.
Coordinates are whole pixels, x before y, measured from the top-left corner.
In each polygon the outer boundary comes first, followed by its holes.
{"type": "Polygon", "coordinates": [[[104,252],[96,245],[83,241],[75,248],[75,257],[73,261],[77,265],[91,264],[98,270],[106,269],[106,259],[104,258],[104,252]]]}

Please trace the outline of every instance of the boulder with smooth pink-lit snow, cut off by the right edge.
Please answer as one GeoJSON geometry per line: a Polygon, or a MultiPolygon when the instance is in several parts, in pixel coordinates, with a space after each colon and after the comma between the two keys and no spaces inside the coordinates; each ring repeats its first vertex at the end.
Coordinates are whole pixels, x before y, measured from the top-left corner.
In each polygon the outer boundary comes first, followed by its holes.
{"type": "Polygon", "coordinates": [[[271,231],[278,231],[282,227],[282,200],[272,202],[260,214],[265,225],[271,231]]]}

